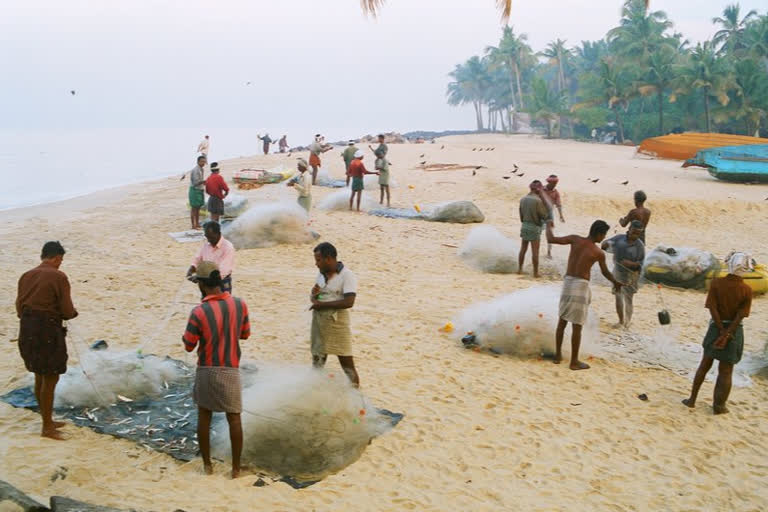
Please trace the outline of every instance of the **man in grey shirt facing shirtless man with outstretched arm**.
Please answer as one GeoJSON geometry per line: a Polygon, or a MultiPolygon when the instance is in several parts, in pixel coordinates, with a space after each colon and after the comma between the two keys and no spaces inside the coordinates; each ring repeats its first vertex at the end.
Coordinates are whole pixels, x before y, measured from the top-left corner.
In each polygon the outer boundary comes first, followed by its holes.
{"type": "Polygon", "coordinates": [[[632,322],[632,299],[637,293],[645,261],[645,245],[640,240],[642,233],[643,223],[633,220],[626,235],[616,235],[601,245],[604,251],[613,252],[613,277],[624,283],[621,289],[614,290],[613,294],[616,296],[619,325],[625,328],[632,322]]]}

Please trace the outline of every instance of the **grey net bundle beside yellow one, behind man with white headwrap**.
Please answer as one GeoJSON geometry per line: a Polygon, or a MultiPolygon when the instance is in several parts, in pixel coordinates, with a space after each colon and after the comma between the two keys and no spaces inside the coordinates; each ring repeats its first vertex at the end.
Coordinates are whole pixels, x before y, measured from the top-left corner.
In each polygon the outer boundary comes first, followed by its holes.
{"type": "Polygon", "coordinates": [[[690,247],[659,245],[645,257],[645,278],[678,288],[704,289],[707,274],[720,270],[714,254],[690,247]]]}

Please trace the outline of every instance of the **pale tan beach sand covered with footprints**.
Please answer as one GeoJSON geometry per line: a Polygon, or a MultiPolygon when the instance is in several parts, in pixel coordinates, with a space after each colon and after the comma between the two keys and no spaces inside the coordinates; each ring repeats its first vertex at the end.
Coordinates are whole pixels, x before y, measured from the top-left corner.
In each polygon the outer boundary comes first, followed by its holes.
{"type": "MultiPolygon", "coordinates": [[[[644,189],[653,218],[650,245],[665,242],[732,249],[768,261],[768,188],[717,182],[679,162],[633,157],[634,149],[528,136],[453,137],[437,144],[392,145],[393,206],[471,199],[486,223],[517,237],[517,201],[530,179],[561,177],[567,223],[559,233],[585,233],[595,218],[615,224],[644,189]],[[442,144],[445,149],[440,150],[442,144]],[[495,147],[492,152],[472,148],[495,147]],[[420,154],[426,153],[424,158],[420,154]],[[424,172],[418,162],[483,165],[471,171],[424,172]],[[517,163],[524,178],[509,175],[517,163]],[[600,178],[597,184],[589,178],[600,178]],[[621,182],[629,180],[629,185],[621,182]],[[410,188],[409,185],[413,186],[410,188]]],[[[294,155],[296,156],[296,155],[294,155]]],[[[194,158],[190,158],[190,167],[194,158]]],[[[338,152],[324,159],[341,176],[338,152]]],[[[290,162],[270,155],[223,162],[241,167],[290,162]]],[[[37,264],[43,242],[61,240],[80,317],[71,345],[106,339],[113,347],[184,358],[180,336],[196,291],[183,282],[196,244],[167,233],[188,226],[186,182],[178,178],[128,186],[57,204],[3,212],[0,392],[24,371],[13,310],[18,276],[37,264]],[[184,303],[173,304],[177,291],[184,303]],[[162,320],[172,314],[167,326],[162,320]]],[[[315,203],[331,189],[315,188],[315,203]]],[[[377,193],[378,191],[370,191],[377,193]]],[[[283,185],[244,192],[252,201],[286,198],[283,185]]],[[[377,197],[378,199],[378,197],[377,197]]],[[[463,350],[438,332],[466,305],[535,284],[530,276],[480,274],[456,250],[471,226],[390,220],[313,210],[312,227],[334,243],[360,280],[353,311],[356,362],[363,390],[379,406],[405,413],[362,458],[311,488],[281,483],[255,488],[255,476],[205,477],[201,464],[181,464],[135,444],[69,426],[67,442],[38,437],[28,411],[0,404],[0,479],[46,501],[65,495],[139,510],[764,510],[768,503],[768,383],[734,388],[731,414],[714,417],[712,384],[699,407],[680,404],[690,381],[672,372],[593,359],[572,372],[546,361],[463,350]],[[650,400],[637,399],[646,393],[650,400]],[[53,478],[66,467],[66,478],[53,478]]],[[[556,248],[564,257],[564,248],[556,248]]],[[[252,311],[244,355],[308,362],[305,296],[315,268],[311,246],[240,251],[235,291],[252,311]]],[[[606,336],[615,321],[607,287],[594,287],[593,314],[606,336]]],[[[669,291],[677,343],[698,343],[704,294],[669,291]]],[[[746,352],[768,339],[768,302],[757,298],[746,322],[746,352]]],[[[658,327],[654,290],[636,298],[635,333],[658,327]]],[[[567,345],[567,343],[566,343],[567,345]]],[[[77,360],[70,349],[71,362],[77,360]]],[[[335,367],[338,363],[332,363],[335,367]]]]}

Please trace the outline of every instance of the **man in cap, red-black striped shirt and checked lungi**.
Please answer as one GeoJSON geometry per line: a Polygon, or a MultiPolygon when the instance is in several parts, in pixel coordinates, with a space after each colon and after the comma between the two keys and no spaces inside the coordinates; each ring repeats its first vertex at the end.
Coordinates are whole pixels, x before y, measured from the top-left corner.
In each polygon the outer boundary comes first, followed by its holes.
{"type": "Polygon", "coordinates": [[[182,341],[187,352],[197,347],[192,396],[197,404],[197,441],[203,468],[205,474],[213,474],[211,417],[214,412],[223,412],[227,415],[232,445],[232,478],[237,478],[243,450],[239,340],[247,340],[251,335],[248,306],[221,289],[221,272],[215,263],[200,262],[192,277],[204,298],[190,313],[182,341]]]}

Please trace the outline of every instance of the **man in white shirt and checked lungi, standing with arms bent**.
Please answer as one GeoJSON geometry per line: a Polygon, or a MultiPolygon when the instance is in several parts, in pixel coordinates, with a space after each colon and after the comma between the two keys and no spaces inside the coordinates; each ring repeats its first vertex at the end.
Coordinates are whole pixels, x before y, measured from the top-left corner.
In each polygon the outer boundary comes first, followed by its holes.
{"type": "Polygon", "coordinates": [[[339,364],[355,387],[360,376],[352,359],[352,330],[349,310],[355,305],[357,278],[336,259],[336,248],[323,242],[314,250],[315,265],[320,273],[310,293],[312,302],[312,364],[322,368],[328,354],[336,355],[339,364]]]}

